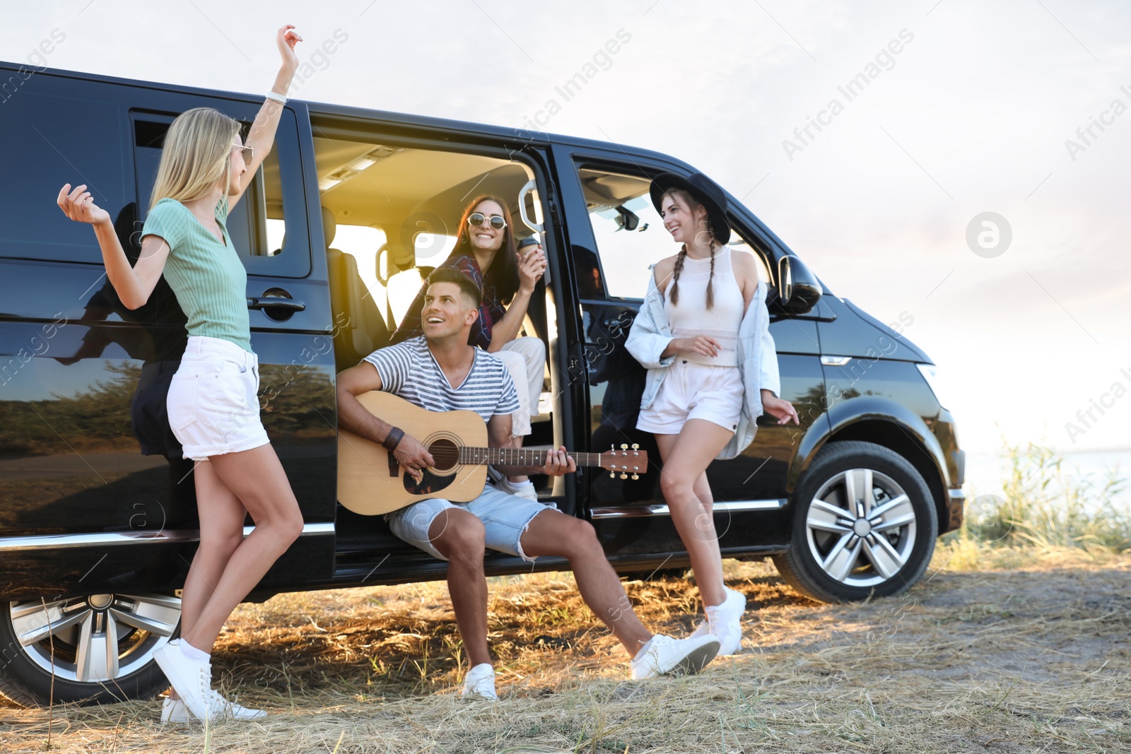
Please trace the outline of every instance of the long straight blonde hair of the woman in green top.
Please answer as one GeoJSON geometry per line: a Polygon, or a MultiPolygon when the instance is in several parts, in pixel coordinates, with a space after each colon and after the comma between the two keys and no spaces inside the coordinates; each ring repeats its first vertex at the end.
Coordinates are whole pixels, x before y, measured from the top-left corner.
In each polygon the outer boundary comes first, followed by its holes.
{"type": "Polygon", "coordinates": [[[165,135],[149,209],[162,199],[199,199],[222,179],[226,192],[232,171],[228,156],[239,132],[240,121],[213,107],[193,107],[178,115],[165,135]]]}

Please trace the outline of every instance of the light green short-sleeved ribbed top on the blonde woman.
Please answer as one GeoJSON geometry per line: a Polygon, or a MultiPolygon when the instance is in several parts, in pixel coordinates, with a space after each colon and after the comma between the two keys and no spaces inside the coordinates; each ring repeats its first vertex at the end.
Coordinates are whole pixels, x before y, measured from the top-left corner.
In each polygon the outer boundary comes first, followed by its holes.
{"type": "Polygon", "coordinates": [[[188,317],[189,335],[223,338],[251,352],[248,272],[227,233],[227,197],[216,205],[224,243],[175,199],[162,199],[145,219],[141,237],[169,244],[165,279],[188,317]]]}

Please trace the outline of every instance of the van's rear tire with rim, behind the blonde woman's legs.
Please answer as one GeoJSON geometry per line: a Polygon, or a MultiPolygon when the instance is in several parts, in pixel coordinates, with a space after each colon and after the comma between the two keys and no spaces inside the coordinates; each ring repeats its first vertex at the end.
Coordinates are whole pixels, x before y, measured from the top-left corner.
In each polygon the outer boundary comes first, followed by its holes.
{"type": "Polygon", "coordinates": [[[181,600],[169,595],[0,603],[0,692],[46,705],[53,673],[55,703],[152,699],[169,687],[153,653],[180,619],[181,600]]]}

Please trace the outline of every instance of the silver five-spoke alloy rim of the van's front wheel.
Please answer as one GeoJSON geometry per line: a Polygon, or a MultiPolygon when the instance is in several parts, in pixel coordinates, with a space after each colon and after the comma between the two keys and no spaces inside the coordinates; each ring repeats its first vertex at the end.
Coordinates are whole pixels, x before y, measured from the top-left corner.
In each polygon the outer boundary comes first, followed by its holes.
{"type": "Polygon", "coordinates": [[[821,485],[805,513],[809,552],[832,580],[874,587],[893,578],[915,548],[910,497],[874,469],[847,469],[821,485]]]}

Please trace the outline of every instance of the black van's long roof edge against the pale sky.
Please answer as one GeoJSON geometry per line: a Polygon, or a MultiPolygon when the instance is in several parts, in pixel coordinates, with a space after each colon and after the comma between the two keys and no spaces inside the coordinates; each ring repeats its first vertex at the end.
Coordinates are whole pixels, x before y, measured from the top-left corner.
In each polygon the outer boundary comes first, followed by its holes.
{"type": "MultiPolygon", "coordinates": [[[[0,60],[0,70],[19,70],[28,69],[28,66],[21,63],[12,63],[0,60]]],[[[225,92],[223,89],[207,89],[204,87],[196,86],[183,86],[179,84],[163,84],[158,81],[145,81],[141,79],[130,79],[121,78],[118,76],[104,76],[101,73],[85,73],[81,71],[69,71],[58,68],[45,68],[37,72],[36,76],[55,76],[60,78],[72,78],[81,79],[87,81],[101,81],[106,84],[119,84],[133,86],[145,89],[159,89],[162,92],[181,92],[184,94],[197,94],[210,97],[221,97],[227,99],[239,99],[242,102],[258,102],[261,99],[259,95],[254,94],[242,94],[239,92],[225,92]]],[[[442,129],[448,131],[458,131],[464,133],[475,133],[480,136],[492,136],[500,139],[517,139],[527,144],[539,144],[546,145],[550,142],[564,144],[578,147],[590,147],[593,149],[603,150],[623,150],[625,148],[631,149],[632,153],[641,156],[646,156],[653,159],[662,161],[668,163],[670,165],[677,165],[688,170],[689,172],[698,172],[691,165],[684,163],[681,159],[666,155],[664,153],[654,151],[651,149],[641,149],[638,147],[628,147],[627,145],[619,145],[611,141],[601,141],[597,139],[586,139],[582,137],[566,136],[561,133],[550,133],[546,131],[529,131],[527,129],[509,128],[504,125],[491,125],[487,123],[475,123],[472,121],[459,121],[448,118],[432,118],[429,115],[413,115],[409,113],[397,113],[386,110],[371,110],[368,107],[354,107],[351,105],[337,105],[322,102],[311,102],[309,99],[302,99],[301,97],[294,98],[297,102],[302,102],[310,110],[311,114],[317,115],[331,115],[342,118],[363,118],[366,120],[375,120],[388,123],[402,123],[409,125],[418,125],[422,128],[442,129]]]]}

